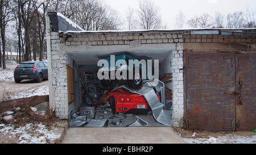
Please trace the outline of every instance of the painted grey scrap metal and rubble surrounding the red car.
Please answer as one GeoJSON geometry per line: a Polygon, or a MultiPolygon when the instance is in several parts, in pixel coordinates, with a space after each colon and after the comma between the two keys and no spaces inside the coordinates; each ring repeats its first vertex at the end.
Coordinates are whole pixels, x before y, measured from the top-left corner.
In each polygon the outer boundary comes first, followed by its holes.
{"type": "MultiPolygon", "coordinates": [[[[164,75],[170,79],[171,74],[164,75]]],[[[166,109],[166,98],[171,99],[171,92],[159,80],[144,81],[140,89],[131,89],[127,85],[116,86],[97,102],[97,106],[81,106],[78,111],[71,111],[70,127],[138,127],[138,126],[172,126],[171,110],[166,109]],[[155,85],[156,84],[156,85],[155,85]],[[113,92],[123,90],[130,94],[142,95],[150,111],[146,115],[116,113],[110,105],[113,92]],[[167,97],[169,96],[169,97],[167,97]]],[[[121,109],[122,110],[122,109],[121,109]]]]}

